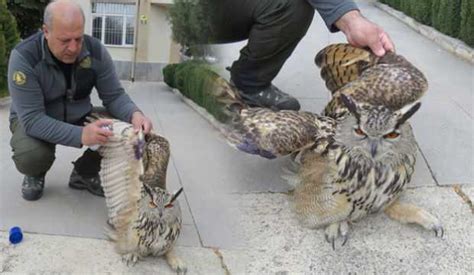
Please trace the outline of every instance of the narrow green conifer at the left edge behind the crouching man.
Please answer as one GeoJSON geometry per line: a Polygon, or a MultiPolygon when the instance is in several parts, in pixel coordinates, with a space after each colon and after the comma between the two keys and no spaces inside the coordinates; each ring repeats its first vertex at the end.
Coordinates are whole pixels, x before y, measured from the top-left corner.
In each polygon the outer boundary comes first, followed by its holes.
{"type": "Polygon", "coordinates": [[[18,40],[15,18],[8,11],[5,0],[0,0],[0,97],[8,94],[8,58],[18,40]]]}

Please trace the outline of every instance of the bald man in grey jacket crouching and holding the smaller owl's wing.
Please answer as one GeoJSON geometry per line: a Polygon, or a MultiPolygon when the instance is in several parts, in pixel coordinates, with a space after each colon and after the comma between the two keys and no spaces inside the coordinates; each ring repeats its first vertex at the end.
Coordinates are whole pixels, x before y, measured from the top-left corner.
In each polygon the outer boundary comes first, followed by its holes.
{"type": "MultiPolygon", "coordinates": [[[[145,133],[152,129],[151,121],[125,93],[105,47],[84,35],[84,20],[76,3],[51,2],[45,9],[43,31],[18,44],[10,56],[10,144],[16,168],[25,175],[21,191],[26,200],[43,194],[56,144],[80,148],[104,144],[112,135],[103,127],[109,120],[83,126],[92,111],[94,87],[113,117],[145,133]]],[[[74,162],[69,186],[103,196],[99,170],[99,154],[86,150],[74,162]]]]}

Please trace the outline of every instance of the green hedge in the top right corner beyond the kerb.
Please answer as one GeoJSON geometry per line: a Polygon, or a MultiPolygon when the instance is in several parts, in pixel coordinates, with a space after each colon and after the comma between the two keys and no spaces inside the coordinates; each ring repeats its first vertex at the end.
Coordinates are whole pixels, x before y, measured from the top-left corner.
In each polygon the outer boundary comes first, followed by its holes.
{"type": "Polygon", "coordinates": [[[380,0],[474,47],[474,0],[380,0]]]}

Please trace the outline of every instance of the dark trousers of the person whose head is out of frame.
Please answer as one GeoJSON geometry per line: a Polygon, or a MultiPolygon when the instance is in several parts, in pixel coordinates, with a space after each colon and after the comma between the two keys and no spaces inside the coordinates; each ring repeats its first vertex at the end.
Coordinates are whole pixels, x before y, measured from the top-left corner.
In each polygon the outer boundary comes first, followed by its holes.
{"type": "Polygon", "coordinates": [[[268,87],[308,30],[314,8],[306,0],[209,0],[210,42],[249,39],[231,77],[245,91],[268,87]]]}

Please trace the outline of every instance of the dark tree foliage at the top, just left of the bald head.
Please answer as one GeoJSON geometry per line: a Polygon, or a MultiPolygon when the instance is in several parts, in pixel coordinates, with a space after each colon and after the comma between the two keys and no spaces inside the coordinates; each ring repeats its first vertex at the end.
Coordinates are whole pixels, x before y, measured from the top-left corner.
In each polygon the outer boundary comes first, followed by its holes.
{"type": "Polygon", "coordinates": [[[18,20],[21,38],[36,33],[43,23],[43,13],[49,0],[7,0],[8,9],[18,20]]]}

